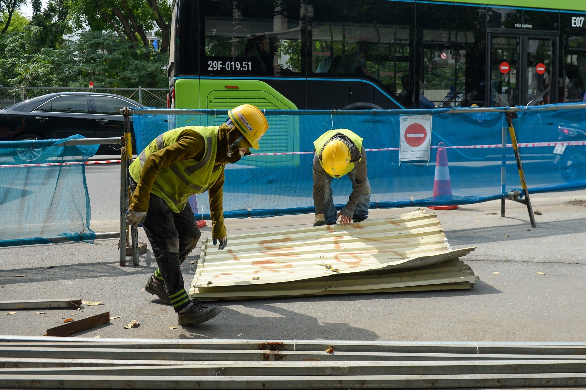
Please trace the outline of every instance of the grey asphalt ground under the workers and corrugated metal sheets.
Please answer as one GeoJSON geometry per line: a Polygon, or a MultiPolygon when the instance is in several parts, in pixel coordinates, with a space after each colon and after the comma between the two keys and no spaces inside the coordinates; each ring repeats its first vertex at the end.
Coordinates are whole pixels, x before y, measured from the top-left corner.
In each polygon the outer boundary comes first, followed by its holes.
{"type": "MultiPolygon", "coordinates": [[[[119,169],[88,166],[91,227],[96,231],[118,228],[119,169]]],[[[120,318],[77,336],[586,341],[586,207],[568,203],[575,199],[586,200],[586,191],[534,195],[533,208],[541,212],[535,215],[537,228],[530,226],[525,206],[512,201],[507,201],[505,218],[499,215],[499,201],[427,210],[438,214],[452,247],[477,247],[462,258],[480,278],[472,290],[223,302],[219,316],[195,328],[177,326],[171,307],[141,291],[156,269],[150,248],[138,267],[118,266],[117,240],[0,248],[0,300],[81,297],[103,302],[84,305],[79,312],[0,313],[1,333],[40,336],[70,314],[80,319],[109,311],[120,318]],[[49,266],[54,268],[45,269],[49,266]],[[141,326],[124,329],[130,320],[141,326]]],[[[371,210],[370,216],[410,210],[371,210]]],[[[305,214],[226,220],[226,225],[229,235],[236,235],[304,227],[312,221],[305,214]]],[[[203,228],[202,238],[209,235],[210,228],[203,228]]],[[[186,285],[195,270],[188,263],[198,256],[196,249],[185,262],[186,285]]]]}

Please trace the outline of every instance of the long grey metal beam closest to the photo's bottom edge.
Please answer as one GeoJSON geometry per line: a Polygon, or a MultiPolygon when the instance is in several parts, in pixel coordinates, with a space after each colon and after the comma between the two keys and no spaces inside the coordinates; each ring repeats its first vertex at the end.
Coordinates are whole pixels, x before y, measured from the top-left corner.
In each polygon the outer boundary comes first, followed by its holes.
{"type": "Polygon", "coordinates": [[[503,388],[586,385],[586,374],[323,375],[323,376],[134,376],[0,375],[5,388],[93,389],[397,389],[503,388]]]}

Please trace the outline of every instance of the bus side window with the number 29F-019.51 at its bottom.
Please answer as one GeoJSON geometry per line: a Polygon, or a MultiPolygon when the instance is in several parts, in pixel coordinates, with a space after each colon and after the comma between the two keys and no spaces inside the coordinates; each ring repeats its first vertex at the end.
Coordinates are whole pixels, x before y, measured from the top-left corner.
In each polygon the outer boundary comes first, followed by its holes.
{"type": "Polygon", "coordinates": [[[281,76],[300,72],[300,2],[215,0],[203,8],[201,74],[281,76]]]}

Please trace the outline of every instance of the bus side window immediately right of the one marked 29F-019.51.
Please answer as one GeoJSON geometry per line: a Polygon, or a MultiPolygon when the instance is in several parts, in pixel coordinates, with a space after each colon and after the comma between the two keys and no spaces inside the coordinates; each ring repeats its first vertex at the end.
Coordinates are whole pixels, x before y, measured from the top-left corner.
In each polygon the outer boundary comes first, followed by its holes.
{"type": "Polygon", "coordinates": [[[409,73],[411,4],[361,0],[352,7],[314,2],[309,73],[318,77],[364,78],[393,98],[409,73]]]}

